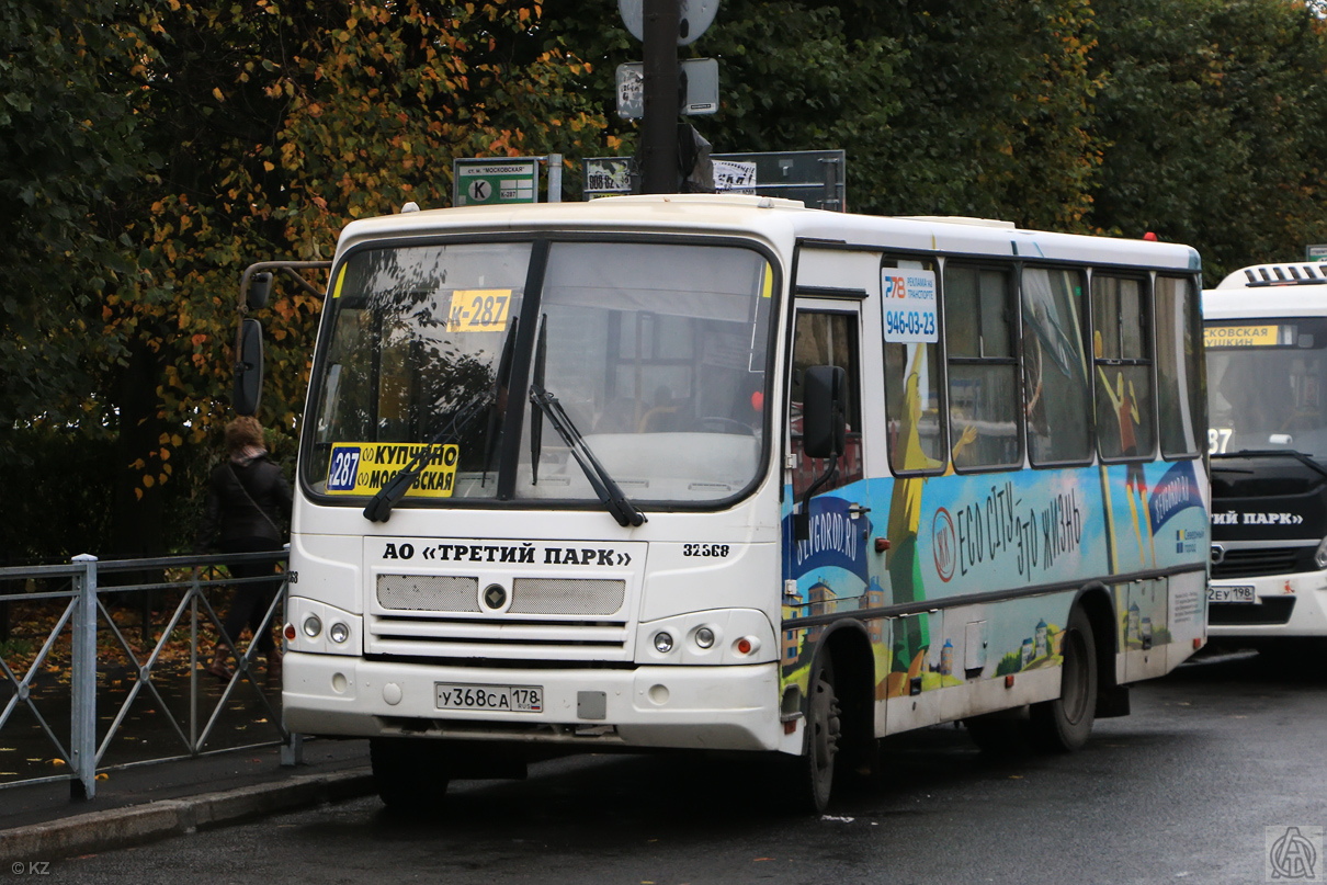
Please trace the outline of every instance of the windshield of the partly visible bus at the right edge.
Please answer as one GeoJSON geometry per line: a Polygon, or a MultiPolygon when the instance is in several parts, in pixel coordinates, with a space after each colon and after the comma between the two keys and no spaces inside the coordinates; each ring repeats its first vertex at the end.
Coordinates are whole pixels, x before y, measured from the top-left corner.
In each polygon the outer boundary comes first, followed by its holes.
{"type": "Polygon", "coordinates": [[[1287,448],[1327,460],[1327,320],[1208,322],[1212,454],[1287,448]]]}

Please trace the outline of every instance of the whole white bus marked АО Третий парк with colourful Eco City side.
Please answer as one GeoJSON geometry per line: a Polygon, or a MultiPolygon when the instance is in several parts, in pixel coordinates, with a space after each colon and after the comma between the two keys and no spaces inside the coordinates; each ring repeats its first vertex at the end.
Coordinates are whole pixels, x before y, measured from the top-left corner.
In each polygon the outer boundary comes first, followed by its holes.
{"type": "Polygon", "coordinates": [[[1075,750],[1205,641],[1200,285],[740,195],[353,222],[287,726],[368,736],[389,807],[565,752],[766,754],[823,809],[894,732],[1075,750]]]}

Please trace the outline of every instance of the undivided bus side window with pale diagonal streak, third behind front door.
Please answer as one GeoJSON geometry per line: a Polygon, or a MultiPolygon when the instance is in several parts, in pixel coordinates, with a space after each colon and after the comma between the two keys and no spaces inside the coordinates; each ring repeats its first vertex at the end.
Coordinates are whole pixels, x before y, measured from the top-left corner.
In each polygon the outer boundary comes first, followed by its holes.
{"type": "Polygon", "coordinates": [[[1092,460],[1092,394],[1080,271],[1023,271],[1023,410],[1034,466],[1092,460]]]}

